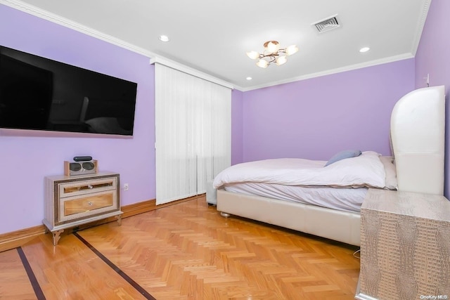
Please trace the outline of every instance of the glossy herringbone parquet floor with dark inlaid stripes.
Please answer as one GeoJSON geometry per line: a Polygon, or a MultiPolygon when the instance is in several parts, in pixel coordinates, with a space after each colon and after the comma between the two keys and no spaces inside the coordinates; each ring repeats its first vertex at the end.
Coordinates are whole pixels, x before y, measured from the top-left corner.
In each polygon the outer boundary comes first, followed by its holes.
{"type": "MultiPolygon", "coordinates": [[[[46,299],[354,299],[359,275],[356,247],[224,219],[204,197],[21,249],[46,299]]],[[[38,299],[16,253],[0,253],[0,298],[38,299]]]]}

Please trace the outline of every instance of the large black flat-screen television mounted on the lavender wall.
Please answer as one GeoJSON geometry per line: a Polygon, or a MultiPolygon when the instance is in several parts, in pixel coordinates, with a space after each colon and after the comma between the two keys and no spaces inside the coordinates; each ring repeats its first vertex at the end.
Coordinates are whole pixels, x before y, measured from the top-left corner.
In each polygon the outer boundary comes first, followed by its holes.
{"type": "Polygon", "coordinates": [[[132,136],[137,84],[0,46],[0,128],[132,136]]]}

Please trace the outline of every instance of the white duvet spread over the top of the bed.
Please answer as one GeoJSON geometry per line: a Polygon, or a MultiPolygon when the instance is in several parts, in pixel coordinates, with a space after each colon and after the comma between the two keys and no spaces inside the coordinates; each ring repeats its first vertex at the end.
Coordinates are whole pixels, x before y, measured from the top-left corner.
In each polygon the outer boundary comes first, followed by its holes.
{"type": "Polygon", "coordinates": [[[384,188],[385,167],[380,154],[365,151],[358,157],[325,166],[326,161],[300,158],[265,159],[235,164],[214,178],[214,188],[228,183],[384,188]]]}

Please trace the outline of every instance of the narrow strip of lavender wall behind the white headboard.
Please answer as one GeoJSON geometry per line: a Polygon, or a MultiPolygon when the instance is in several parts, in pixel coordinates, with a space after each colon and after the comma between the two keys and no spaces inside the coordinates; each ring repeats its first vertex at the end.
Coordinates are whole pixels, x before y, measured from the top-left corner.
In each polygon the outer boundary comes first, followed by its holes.
{"type": "Polygon", "coordinates": [[[433,0],[423,28],[422,38],[416,53],[416,89],[426,86],[424,78],[430,74],[430,86],[445,86],[446,94],[446,143],[445,143],[445,188],[444,196],[450,199],[450,23],[448,13],[450,1],[433,0]]]}

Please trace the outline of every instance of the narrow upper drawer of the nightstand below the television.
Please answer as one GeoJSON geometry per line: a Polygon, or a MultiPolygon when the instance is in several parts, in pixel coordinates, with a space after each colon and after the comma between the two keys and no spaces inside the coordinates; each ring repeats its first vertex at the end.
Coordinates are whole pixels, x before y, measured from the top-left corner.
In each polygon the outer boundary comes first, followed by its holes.
{"type": "Polygon", "coordinates": [[[104,190],[115,190],[117,187],[116,178],[104,178],[94,181],[80,181],[71,183],[60,183],[59,196],[71,197],[76,195],[84,195],[87,193],[96,193],[104,190]]]}

